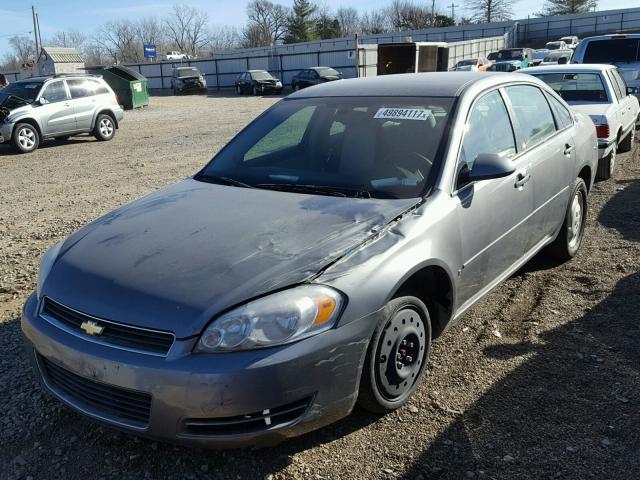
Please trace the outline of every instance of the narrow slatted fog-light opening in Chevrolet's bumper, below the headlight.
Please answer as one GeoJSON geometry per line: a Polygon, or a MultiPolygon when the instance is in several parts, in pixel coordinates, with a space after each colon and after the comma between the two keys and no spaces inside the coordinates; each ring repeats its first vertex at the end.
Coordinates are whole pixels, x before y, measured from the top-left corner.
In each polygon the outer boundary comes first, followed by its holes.
{"type": "Polygon", "coordinates": [[[221,418],[188,418],[184,421],[184,432],[188,435],[234,435],[269,430],[292,423],[306,412],[312,397],[307,397],[281,407],[221,418]]]}

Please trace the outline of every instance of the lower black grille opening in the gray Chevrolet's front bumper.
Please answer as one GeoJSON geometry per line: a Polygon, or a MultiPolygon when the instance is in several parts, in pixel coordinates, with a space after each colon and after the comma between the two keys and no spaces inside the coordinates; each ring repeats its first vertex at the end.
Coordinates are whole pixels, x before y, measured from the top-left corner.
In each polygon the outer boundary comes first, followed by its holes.
{"type": "Polygon", "coordinates": [[[151,395],[81,377],[38,356],[38,364],[49,387],[88,414],[146,428],[151,395]]]}

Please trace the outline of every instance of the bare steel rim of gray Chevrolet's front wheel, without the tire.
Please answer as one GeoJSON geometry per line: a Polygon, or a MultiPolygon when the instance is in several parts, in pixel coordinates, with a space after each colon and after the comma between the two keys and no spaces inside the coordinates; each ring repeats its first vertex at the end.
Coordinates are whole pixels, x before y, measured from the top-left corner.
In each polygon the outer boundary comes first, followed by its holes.
{"type": "Polygon", "coordinates": [[[387,322],[376,349],[376,383],[389,401],[401,401],[413,390],[424,368],[427,332],[417,311],[404,308],[387,322]]]}

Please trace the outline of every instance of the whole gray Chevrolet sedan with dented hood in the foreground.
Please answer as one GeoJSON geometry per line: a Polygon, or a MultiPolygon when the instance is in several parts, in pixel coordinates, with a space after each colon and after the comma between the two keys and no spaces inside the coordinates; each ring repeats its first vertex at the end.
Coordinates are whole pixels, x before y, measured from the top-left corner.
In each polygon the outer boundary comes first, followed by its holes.
{"type": "Polygon", "coordinates": [[[544,247],[576,254],[596,147],[525,75],[295,93],[44,255],[22,316],[37,376],[100,422],[208,446],[397,409],[470,306],[544,247]]]}

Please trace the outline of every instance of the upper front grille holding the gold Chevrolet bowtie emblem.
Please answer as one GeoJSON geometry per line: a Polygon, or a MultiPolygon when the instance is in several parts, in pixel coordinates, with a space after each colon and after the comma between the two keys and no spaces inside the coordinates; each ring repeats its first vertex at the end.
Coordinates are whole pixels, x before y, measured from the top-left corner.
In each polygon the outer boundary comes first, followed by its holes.
{"type": "Polygon", "coordinates": [[[166,355],[174,341],[172,333],[132,327],[110,320],[94,318],[69,307],[65,307],[50,298],[44,299],[42,314],[45,317],[52,318],[88,340],[142,352],[166,355]],[[99,336],[87,335],[86,332],[82,330],[81,325],[88,321],[96,322],[101,327],[104,327],[104,330],[99,336]]]}

